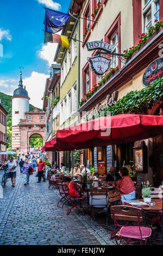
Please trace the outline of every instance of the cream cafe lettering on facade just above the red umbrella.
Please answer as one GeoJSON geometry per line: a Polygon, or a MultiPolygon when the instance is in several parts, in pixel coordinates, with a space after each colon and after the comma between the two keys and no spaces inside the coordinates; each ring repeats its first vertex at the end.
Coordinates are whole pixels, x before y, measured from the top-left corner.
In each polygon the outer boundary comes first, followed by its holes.
{"type": "Polygon", "coordinates": [[[104,111],[105,108],[115,105],[118,99],[118,92],[114,91],[112,95],[108,94],[103,104],[98,103],[92,111],[87,111],[84,116],[84,121],[89,121],[93,116],[97,115],[99,112],[104,111]]]}

